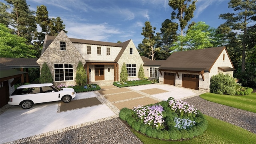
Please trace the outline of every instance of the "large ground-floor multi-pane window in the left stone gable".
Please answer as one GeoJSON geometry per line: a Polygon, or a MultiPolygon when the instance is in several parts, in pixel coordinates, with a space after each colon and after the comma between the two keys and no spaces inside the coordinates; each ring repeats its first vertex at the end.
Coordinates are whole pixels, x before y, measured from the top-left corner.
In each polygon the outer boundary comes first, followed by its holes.
{"type": "Polygon", "coordinates": [[[54,64],[55,81],[73,80],[73,64],[54,64]]]}

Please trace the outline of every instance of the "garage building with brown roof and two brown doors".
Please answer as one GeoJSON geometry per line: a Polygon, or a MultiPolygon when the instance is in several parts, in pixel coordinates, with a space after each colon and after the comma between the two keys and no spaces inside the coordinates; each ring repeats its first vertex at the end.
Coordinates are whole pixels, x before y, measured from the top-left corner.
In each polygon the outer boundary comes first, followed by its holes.
{"type": "Polygon", "coordinates": [[[224,46],[174,52],[158,68],[159,82],[203,92],[210,91],[210,78],[233,76],[234,66],[224,46]]]}

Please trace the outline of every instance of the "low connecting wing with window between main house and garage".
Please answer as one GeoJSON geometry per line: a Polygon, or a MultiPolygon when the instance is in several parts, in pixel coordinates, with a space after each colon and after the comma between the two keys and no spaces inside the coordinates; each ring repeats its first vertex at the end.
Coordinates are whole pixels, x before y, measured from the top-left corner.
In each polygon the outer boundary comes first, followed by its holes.
{"type": "Polygon", "coordinates": [[[145,77],[148,77],[149,79],[158,79],[160,75],[158,68],[165,60],[151,60],[145,56],[141,56],[141,58],[144,62],[143,68],[145,77]]]}

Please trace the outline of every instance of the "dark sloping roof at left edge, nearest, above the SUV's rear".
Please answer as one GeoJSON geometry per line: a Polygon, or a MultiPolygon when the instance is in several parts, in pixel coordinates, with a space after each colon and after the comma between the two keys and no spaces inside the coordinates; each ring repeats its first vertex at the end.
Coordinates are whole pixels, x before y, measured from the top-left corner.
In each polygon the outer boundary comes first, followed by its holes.
{"type": "Polygon", "coordinates": [[[20,74],[26,74],[27,72],[22,72],[19,70],[14,70],[12,68],[9,68],[8,66],[5,66],[4,64],[0,64],[0,78],[12,78],[14,76],[20,75],[20,74]]]}

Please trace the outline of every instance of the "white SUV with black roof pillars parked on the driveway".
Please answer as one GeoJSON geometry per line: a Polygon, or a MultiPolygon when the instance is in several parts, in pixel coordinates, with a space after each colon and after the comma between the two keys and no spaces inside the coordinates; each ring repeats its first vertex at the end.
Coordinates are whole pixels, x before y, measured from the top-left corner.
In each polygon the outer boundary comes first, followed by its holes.
{"type": "Polygon", "coordinates": [[[70,102],[76,96],[73,88],[58,88],[53,84],[27,84],[19,86],[9,97],[9,105],[20,105],[24,109],[33,104],[62,100],[70,102]]]}

